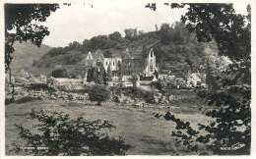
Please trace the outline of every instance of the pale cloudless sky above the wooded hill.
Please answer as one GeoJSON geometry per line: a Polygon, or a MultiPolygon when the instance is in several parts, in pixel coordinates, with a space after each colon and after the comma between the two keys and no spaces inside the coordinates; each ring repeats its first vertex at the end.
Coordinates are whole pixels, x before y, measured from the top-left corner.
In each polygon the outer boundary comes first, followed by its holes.
{"type": "MultiPolygon", "coordinates": [[[[60,9],[47,18],[43,26],[48,27],[50,35],[43,43],[52,47],[64,47],[70,42],[83,43],[99,34],[119,31],[124,36],[125,28],[135,28],[145,32],[156,30],[157,24],[173,24],[180,20],[186,9],[170,9],[159,3],[157,11],[145,8],[146,2],[122,3],[94,2],[60,4],[60,9]],[[92,7],[93,5],[93,7],[92,7]]],[[[246,4],[234,4],[237,13],[246,14],[246,4]]]]}

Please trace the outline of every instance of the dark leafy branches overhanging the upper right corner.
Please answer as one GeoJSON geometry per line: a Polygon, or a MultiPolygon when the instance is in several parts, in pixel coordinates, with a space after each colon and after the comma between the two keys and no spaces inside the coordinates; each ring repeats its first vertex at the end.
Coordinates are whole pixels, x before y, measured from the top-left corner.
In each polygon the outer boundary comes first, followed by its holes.
{"type": "Polygon", "coordinates": [[[251,27],[250,6],[248,15],[235,14],[232,4],[170,4],[171,8],[189,6],[188,12],[181,17],[186,27],[195,31],[198,41],[209,42],[212,39],[218,44],[220,55],[234,61],[250,61],[251,27]],[[245,21],[248,21],[245,26],[245,21]]]}

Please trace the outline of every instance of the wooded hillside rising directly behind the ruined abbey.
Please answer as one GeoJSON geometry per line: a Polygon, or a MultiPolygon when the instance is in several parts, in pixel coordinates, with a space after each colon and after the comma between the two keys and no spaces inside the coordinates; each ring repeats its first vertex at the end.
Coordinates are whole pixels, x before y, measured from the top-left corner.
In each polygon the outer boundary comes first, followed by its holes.
{"type": "Polygon", "coordinates": [[[207,56],[206,48],[210,48],[215,54],[218,52],[215,42],[197,42],[195,33],[189,32],[182,23],[172,26],[162,24],[158,31],[127,34],[125,37],[115,31],[109,35],[85,39],[83,44],[74,41],[66,47],[53,48],[36,62],[33,72],[47,74],[55,66],[65,65],[69,65],[68,70],[71,71],[89,51],[100,49],[105,57],[122,57],[127,48],[134,58],[147,56],[150,48],[153,48],[160,69],[171,65],[189,65],[193,71],[198,69],[207,56]]]}

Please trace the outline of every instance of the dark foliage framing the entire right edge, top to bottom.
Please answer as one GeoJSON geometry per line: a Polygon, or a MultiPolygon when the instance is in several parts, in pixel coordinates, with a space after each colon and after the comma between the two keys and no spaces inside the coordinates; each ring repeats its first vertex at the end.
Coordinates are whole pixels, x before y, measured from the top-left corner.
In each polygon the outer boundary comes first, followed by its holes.
{"type": "MultiPolygon", "coordinates": [[[[171,8],[188,7],[188,12],[181,17],[190,31],[195,31],[200,42],[214,39],[217,42],[219,55],[227,56],[233,64],[229,65],[218,82],[225,87],[223,90],[200,92],[198,95],[206,98],[210,106],[216,105],[221,109],[206,112],[206,116],[215,119],[209,125],[198,124],[198,132],[190,127],[189,122],[175,118],[169,112],[166,120],[176,123],[176,143],[183,143],[187,149],[198,154],[198,144],[205,144],[213,154],[249,154],[251,145],[251,13],[248,15],[235,14],[232,4],[168,4],[171,8]],[[247,25],[246,23],[247,22],[247,25]],[[225,75],[225,76],[224,76],[225,75]],[[244,129],[238,130],[243,127],[244,129]],[[183,130],[183,131],[182,131],[183,130]],[[182,131],[182,132],[181,132],[182,131]],[[211,140],[211,141],[210,141],[211,140]],[[230,147],[239,140],[242,147],[236,151],[224,151],[221,147],[230,147]]],[[[156,4],[148,4],[156,10],[156,4]]]]}

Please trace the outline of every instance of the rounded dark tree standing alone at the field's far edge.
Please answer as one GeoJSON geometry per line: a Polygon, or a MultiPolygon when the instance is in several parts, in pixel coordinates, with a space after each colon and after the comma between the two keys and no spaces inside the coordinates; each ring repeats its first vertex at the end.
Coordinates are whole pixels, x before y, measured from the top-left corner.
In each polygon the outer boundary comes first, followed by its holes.
{"type": "Polygon", "coordinates": [[[110,98],[110,90],[108,90],[104,85],[95,84],[89,91],[89,99],[91,101],[96,101],[97,105],[101,105],[102,101],[110,98]]]}

